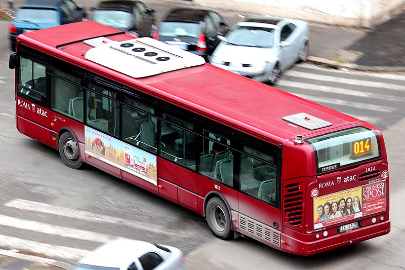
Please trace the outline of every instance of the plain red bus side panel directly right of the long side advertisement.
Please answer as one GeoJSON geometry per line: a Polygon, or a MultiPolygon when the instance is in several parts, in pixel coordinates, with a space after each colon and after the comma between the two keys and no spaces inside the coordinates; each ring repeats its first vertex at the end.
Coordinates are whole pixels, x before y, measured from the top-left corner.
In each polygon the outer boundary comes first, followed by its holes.
{"type": "Polygon", "coordinates": [[[196,173],[173,162],[157,158],[157,176],[197,193],[196,173]]]}

